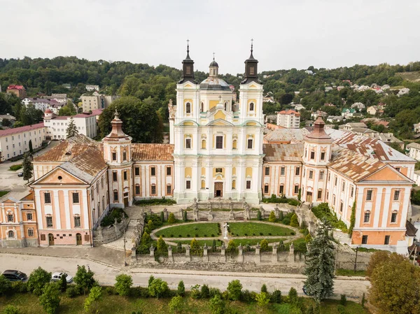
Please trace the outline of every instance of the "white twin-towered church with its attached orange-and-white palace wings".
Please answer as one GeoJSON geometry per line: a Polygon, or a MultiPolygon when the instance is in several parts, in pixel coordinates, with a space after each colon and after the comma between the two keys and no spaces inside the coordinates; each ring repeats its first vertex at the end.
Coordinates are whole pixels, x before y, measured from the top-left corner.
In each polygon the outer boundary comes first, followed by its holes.
{"type": "Polygon", "coordinates": [[[136,199],[259,204],[275,194],[328,202],[347,227],[354,216],[352,245],[407,250],[414,159],[374,138],[326,129],[321,118],[298,143],[263,143],[263,89],[252,46],[238,102],[215,60],[201,83],[189,48],[182,64],[176,104],[168,105],[169,144],[132,143],[116,112],[101,142],[73,136],[34,159],[38,245],[92,245],[92,231],[110,208],[136,199]]]}

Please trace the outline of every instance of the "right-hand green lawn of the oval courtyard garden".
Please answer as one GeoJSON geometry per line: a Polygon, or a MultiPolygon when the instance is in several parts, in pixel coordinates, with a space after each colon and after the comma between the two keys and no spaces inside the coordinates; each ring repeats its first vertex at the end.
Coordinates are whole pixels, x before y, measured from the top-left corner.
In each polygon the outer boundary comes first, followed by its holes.
{"type": "Polygon", "coordinates": [[[258,222],[230,222],[230,233],[233,236],[290,236],[292,229],[258,222]]]}

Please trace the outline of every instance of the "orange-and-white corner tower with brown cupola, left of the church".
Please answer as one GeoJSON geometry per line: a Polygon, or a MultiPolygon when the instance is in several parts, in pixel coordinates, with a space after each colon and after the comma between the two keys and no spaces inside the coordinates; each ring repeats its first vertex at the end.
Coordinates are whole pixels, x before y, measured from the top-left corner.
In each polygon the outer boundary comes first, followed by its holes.
{"type": "Polygon", "coordinates": [[[131,136],[123,131],[123,121],[118,111],[111,121],[111,133],[102,139],[104,143],[104,160],[109,165],[109,204],[111,207],[125,208],[132,206],[132,154],[131,136]]]}

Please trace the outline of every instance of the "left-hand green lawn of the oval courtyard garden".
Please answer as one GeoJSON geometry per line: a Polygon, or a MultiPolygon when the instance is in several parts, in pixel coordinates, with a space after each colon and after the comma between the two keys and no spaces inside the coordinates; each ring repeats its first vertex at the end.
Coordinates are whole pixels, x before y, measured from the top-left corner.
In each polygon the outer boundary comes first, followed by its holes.
{"type": "Polygon", "coordinates": [[[210,237],[212,234],[218,236],[218,223],[209,222],[204,224],[182,224],[179,226],[169,227],[156,232],[156,236],[164,238],[202,238],[210,237]]]}

